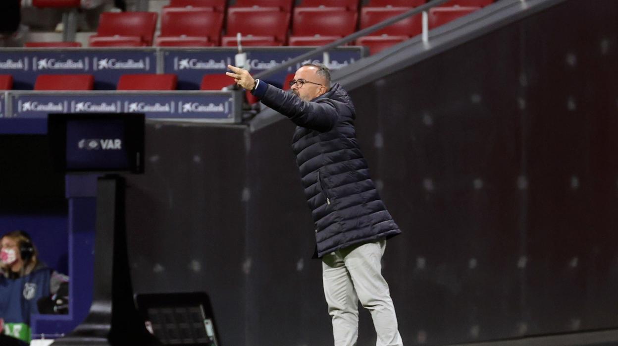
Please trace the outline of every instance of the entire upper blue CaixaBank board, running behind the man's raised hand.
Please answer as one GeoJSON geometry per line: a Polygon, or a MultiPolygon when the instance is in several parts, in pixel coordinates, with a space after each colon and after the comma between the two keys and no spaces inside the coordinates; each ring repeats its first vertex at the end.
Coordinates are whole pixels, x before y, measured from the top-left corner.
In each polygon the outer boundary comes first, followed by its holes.
{"type": "MultiPolygon", "coordinates": [[[[245,48],[252,74],[284,63],[314,47],[245,48]]],[[[200,89],[205,74],[224,74],[234,64],[236,48],[2,48],[0,74],[13,76],[13,89],[32,90],[39,74],[92,74],[95,90],[115,90],[122,74],[173,73],[179,90],[200,89]]],[[[341,69],[366,56],[362,46],[345,46],[329,51],[330,69],[341,69]]],[[[303,63],[322,63],[322,54],[303,63]]],[[[290,67],[266,79],[281,86],[290,67]]]]}

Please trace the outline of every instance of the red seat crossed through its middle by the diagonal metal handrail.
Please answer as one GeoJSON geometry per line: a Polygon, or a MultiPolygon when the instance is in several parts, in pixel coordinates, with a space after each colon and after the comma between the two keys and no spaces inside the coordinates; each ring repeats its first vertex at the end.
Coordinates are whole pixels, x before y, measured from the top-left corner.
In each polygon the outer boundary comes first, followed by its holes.
{"type": "MultiPolygon", "coordinates": [[[[371,25],[378,24],[383,20],[410,11],[410,7],[363,7],[360,10],[360,28],[364,29],[371,25]]],[[[371,33],[373,36],[394,35],[394,36],[415,36],[423,31],[421,14],[412,15],[399,20],[395,24],[371,33]]]]}

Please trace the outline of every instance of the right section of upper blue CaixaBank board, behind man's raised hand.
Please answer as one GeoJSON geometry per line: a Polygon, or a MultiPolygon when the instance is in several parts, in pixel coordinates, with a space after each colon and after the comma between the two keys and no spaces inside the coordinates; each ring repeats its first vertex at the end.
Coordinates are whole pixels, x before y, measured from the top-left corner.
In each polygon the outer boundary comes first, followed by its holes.
{"type": "MultiPolygon", "coordinates": [[[[307,47],[266,47],[246,48],[247,63],[251,66],[250,72],[256,74],[285,63],[301,54],[305,54],[315,48],[307,47]]],[[[200,89],[201,80],[206,74],[224,74],[228,64],[234,64],[236,48],[210,48],[204,49],[178,49],[161,48],[163,51],[163,72],[173,73],[178,76],[179,90],[200,89]]],[[[348,66],[366,56],[366,49],[360,46],[336,48],[329,51],[330,69],[336,70],[348,66]]],[[[323,55],[316,54],[312,59],[303,61],[287,71],[281,71],[266,80],[281,87],[286,75],[294,73],[298,67],[305,63],[322,63],[323,55]]],[[[233,82],[233,81],[232,81],[233,82]]],[[[231,82],[231,84],[232,84],[231,82]]]]}

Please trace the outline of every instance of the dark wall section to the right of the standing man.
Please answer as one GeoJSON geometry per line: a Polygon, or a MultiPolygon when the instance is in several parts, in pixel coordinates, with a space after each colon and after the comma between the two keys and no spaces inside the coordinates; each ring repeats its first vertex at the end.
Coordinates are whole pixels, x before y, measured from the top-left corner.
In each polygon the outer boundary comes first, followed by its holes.
{"type": "Polygon", "coordinates": [[[617,13],[568,1],[352,91],[404,340],[616,327],[617,13]]]}

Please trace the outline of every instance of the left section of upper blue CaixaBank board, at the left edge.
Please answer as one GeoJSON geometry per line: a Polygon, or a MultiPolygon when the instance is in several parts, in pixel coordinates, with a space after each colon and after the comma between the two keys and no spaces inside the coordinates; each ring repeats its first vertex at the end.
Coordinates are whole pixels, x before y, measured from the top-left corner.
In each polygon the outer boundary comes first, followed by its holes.
{"type": "Polygon", "coordinates": [[[92,74],[95,89],[114,90],[122,74],[156,72],[154,48],[14,48],[0,51],[0,74],[11,74],[13,89],[17,90],[32,90],[40,74],[92,74]]]}

